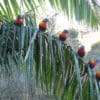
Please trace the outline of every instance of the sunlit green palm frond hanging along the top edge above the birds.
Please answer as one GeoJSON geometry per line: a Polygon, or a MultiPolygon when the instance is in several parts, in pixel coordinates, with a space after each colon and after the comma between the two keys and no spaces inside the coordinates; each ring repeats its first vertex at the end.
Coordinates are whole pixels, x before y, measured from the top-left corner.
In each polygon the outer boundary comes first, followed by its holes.
{"type": "MultiPolygon", "coordinates": [[[[41,0],[38,2],[42,10],[44,10],[44,13],[47,8],[45,2],[45,0],[41,0]]],[[[92,0],[91,3],[88,0],[49,0],[49,3],[53,8],[64,12],[69,20],[76,19],[80,23],[85,23],[94,28],[98,28],[98,26],[100,25],[100,16],[98,15],[100,7],[96,0],[92,0]]],[[[34,17],[34,19],[36,20],[35,17],[36,13],[38,13],[38,6],[34,0],[23,0],[21,5],[23,6],[23,8],[19,7],[19,3],[17,2],[17,0],[5,0],[4,5],[5,7],[2,5],[2,3],[0,3],[1,15],[5,15],[10,20],[13,19],[13,16],[21,13],[21,10],[25,10],[26,12],[32,10],[34,13],[32,17],[34,17]]]]}

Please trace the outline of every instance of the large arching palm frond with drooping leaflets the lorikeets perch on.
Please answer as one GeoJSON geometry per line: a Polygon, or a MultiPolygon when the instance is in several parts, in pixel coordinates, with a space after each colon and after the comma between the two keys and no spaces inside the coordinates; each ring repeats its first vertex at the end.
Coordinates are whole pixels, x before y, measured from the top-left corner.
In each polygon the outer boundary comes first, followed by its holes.
{"type": "Polygon", "coordinates": [[[30,81],[34,77],[42,91],[61,100],[82,100],[84,96],[89,100],[100,99],[98,82],[87,68],[73,48],[55,36],[43,32],[37,36],[35,27],[4,23],[0,36],[0,76],[11,77],[14,70],[16,79],[25,76],[29,95],[30,81]],[[87,93],[84,94],[85,89],[87,93]]]}

